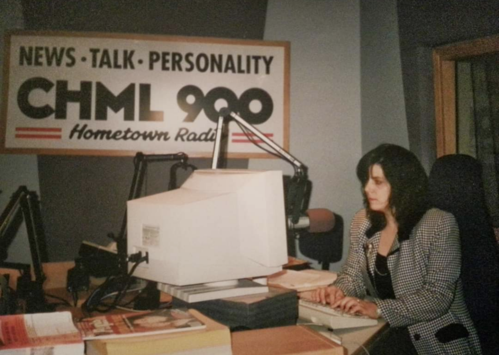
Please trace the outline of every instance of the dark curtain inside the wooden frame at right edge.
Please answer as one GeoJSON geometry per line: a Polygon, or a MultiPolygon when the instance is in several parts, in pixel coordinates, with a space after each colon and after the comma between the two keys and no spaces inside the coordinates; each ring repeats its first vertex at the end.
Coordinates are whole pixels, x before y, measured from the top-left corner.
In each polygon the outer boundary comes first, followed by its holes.
{"type": "Polygon", "coordinates": [[[477,159],[483,167],[486,201],[492,223],[499,227],[499,56],[474,60],[473,108],[477,159]]]}

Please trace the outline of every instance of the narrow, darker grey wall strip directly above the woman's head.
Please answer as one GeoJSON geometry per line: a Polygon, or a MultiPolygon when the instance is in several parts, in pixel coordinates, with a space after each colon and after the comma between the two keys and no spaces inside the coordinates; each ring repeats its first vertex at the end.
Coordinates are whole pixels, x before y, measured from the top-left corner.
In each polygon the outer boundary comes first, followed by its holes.
{"type": "Polygon", "coordinates": [[[362,152],[380,142],[409,148],[395,0],[360,4],[362,152]]]}

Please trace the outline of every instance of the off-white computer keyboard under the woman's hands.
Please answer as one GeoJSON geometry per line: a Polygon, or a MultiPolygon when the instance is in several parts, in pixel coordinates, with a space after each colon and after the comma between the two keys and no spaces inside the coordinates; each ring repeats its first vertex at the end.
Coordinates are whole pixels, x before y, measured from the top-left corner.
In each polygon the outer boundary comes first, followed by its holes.
{"type": "Polygon", "coordinates": [[[370,327],[378,324],[376,319],[356,314],[343,313],[329,305],[304,299],[298,300],[298,317],[331,329],[370,327]]]}

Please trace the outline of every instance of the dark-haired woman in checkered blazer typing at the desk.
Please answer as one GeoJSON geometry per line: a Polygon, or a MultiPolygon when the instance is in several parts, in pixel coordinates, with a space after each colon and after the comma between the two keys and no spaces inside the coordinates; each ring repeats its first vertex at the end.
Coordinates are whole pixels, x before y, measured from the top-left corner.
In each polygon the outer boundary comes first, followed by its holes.
{"type": "Polygon", "coordinates": [[[428,208],[421,163],[405,148],[382,144],[362,157],[357,176],[366,208],[350,226],[348,258],[312,299],[382,316],[388,338],[371,354],[481,354],[459,279],[458,227],[451,214],[428,208]]]}

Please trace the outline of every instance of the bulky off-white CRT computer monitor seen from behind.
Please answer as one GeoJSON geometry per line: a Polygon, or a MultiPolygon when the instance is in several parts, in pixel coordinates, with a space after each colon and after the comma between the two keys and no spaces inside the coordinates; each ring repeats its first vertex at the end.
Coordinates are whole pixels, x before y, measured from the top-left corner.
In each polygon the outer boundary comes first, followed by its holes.
{"type": "Polygon", "coordinates": [[[281,171],[196,170],[176,190],[127,203],[134,276],[192,285],[266,276],[287,262],[281,171]]]}

